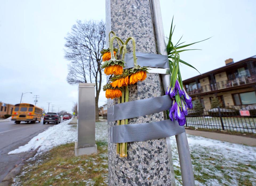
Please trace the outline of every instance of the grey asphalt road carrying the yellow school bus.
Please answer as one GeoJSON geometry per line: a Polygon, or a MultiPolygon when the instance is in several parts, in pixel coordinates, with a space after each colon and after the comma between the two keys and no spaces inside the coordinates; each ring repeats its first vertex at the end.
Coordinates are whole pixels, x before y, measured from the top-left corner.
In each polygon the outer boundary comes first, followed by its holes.
{"type": "Polygon", "coordinates": [[[43,125],[43,120],[41,123],[35,124],[25,122],[15,124],[14,121],[0,122],[0,183],[7,173],[29,156],[30,152],[10,155],[7,153],[25,145],[31,138],[53,125],[53,123],[43,125]]]}

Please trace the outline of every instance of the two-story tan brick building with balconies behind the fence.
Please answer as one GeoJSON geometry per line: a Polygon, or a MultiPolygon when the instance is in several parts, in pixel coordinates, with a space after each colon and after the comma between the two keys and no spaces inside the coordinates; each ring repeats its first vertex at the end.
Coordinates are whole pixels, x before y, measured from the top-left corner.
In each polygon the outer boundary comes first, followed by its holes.
{"type": "Polygon", "coordinates": [[[208,110],[215,95],[223,107],[256,104],[256,56],[236,63],[227,59],[225,63],[224,67],[183,81],[192,102],[197,97],[208,110]]]}

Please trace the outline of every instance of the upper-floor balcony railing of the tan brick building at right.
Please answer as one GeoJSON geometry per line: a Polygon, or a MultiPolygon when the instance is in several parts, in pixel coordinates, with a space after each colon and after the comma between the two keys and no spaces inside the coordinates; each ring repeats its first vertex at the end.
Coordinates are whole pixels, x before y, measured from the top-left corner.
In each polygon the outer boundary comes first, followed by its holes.
{"type": "Polygon", "coordinates": [[[190,95],[193,95],[193,94],[198,94],[203,92],[210,92],[214,90],[220,90],[220,89],[250,84],[253,82],[256,82],[256,75],[253,75],[251,77],[242,76],[242,77],[235,78],[234,80],[224,80],[224,81],[216,82],[214,84],[203,85],[201,86],[201,88],[187,91],[187,93],[190,95]]]}

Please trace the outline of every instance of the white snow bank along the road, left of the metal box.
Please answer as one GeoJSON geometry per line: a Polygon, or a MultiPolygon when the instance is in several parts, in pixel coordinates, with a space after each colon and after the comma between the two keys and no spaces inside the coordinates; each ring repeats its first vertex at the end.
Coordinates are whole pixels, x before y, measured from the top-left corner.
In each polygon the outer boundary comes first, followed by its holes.
{"type": "Polygon", "coordinates": [[[77,139],[77,128],[72,127],[72,125],[68,125],[72,119],[49,127],[42,133],[39,133],[37,136],[32,138],[24,146],[20,146],[19,148],[10,151],[8,155],[35,150],[37,147],[41,146],[37,152],[40,153],[61,144],[74,142],[77,139]]]}

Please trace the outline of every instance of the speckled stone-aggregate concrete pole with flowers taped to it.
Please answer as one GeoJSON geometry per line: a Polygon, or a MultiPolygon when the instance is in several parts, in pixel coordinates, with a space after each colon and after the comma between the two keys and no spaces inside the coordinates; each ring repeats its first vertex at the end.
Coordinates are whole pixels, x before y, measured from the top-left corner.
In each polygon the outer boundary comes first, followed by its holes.
{"type": "MultiPolygon", "coordinates": [[[[106,0],[106,34],[110,30],[123,40],[133,36],[138,52],[157,53],[150,0],[106,0]]],[[[106,40],[108,42],[108,36],[106,40]]],[[[129,101],[163,94],[159,74],[148,74],[145,81],[129,85],[129,101]]],[[[116,99],[108,99],[108,107],[114,104],[117,104],[116,99]]],[[[161,121],[164,118],[165,114],[160,112],[129,119],[129,124],[161,121]]],[[[108,129],[116,124],[108,122],[108,129]]],[[[175,185],[172,182],[168,145],[166,138],[128,143],[127,158],[120,158],[116,154],[116,144],[108,142],[109,185],[175,185]]]]}

